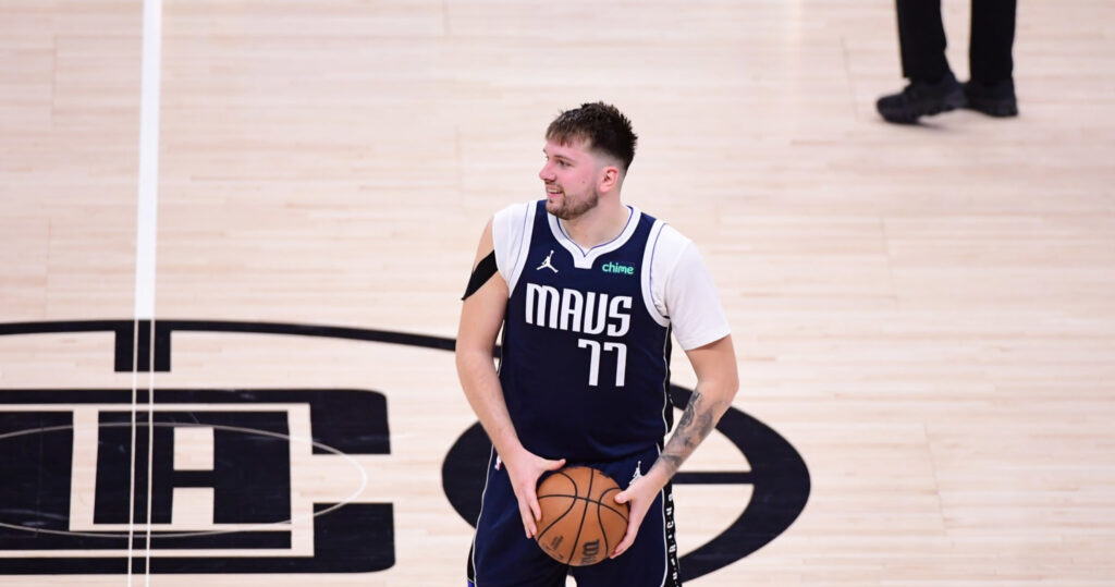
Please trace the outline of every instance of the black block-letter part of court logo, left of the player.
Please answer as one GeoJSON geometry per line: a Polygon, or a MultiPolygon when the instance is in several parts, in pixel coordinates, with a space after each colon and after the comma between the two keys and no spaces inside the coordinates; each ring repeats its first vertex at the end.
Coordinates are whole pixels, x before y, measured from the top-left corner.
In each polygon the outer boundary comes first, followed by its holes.
{"type": "MultiPolygon", "coordinates": [[[[124,572],[133,464],[132,523],[145,525],[151,511],[153,528],[173,527],[152,531],[154,552],[239,554],[153,556],[152,572],[358,572],[394,565],[389,503],[312,503],[300,511],[291,497],[291,450],[300,439],[292,434],[290,415],[308,408],[312,441],[301,441],[314,454],[386,454],[390,446],[382,394],[158,389],[148,434],[146,392],[140,392],[135,459],[130,402],[130,389],[0,392],[0,450],[8,455],[0,460],[0,549],[35,554],[0,558],[0,574],[124,572]],[[196,460],[207,462],[175,462],[175,443],[185,437],[206,446],[207,454],[196,460]],[[81,474],[84,470],[93,473],[81,474]],[[194,488],[211,494],[212,520],[204,523],[175,519],[174,503],[185,495],[181,490],[194,488]],[[74,499],[81,494],[93,499],[74,499]],[[295,550],[299,537],[292,521],[299,517],[312,520],[309,557],[295,550]],[[50,556],[66,550],[104,556],[50,556]],[[277,557],[275,551],[291,555],[277,557]]],[[[133,532],[132,540],[135,549],[146,546],[144,531],[133,532]]],[[[144,571],[145,560],[132,562],[133,572],[144,571]]]]}

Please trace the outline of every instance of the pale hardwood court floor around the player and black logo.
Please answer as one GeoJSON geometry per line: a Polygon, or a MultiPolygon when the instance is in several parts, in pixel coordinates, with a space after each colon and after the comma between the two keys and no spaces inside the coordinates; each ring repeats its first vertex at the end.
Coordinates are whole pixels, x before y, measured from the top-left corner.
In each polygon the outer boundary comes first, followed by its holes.
{"type": "MultiPolygon", "coordinates": [[[[944,10],[967,78],[967,3],[944,10]]],[[[1021,116],[896,127],[873,110],[902,85],[888,2],[166,0],[155,317],[452,338],[484,222],[541,195],[545,125],[604,99],[641,137],[626,200],[692,237],[720,288],[743,377],[736,408],[808,466],[808,503],[788,530],[739,560],[719,554],[730,564],[689,585],[1112,585],[1113,18],[1098,0],[1020,2],[1021,116]]],[[[0,1],[7,334],[134,317],[142,28],[138,0],[0,1]]],[[[463,584],[471,527],[442,468],[475,418],[448,353],[196,329],[173,335],[168,371],[133,375],[114,369],[120,340],[0,336],[0,448],[19,473],[0,479],[6,499],[68,488],[68,503],[42,508],[65,507],[69,531],[126,532],[96,518],[97,483],[110,480],[97,480],[109,456],[94,446],[119,430],[105,413],[152,386],[159,410],[215,431],[176,433],[178,484],[157,530],[239,530],[190,556],[271,558],[265,572],[156,572],[151,585],[463,584]],[[254,395],[191,395],[213,389],[254,395]],[[382,393],[390,452],[316,453],[310,396],[268,389],[382,393]],[[36,444],[11,436],[28,417],[18,410],[71,424],[36,444]],[[294,518],[289,543],[268,541],[273,527],[214,519],[226,498],[204,475],[231,441],[229,424],[206,418],[253,410],[280,414],[255,430],[278,425],[266,437],[290,442],[289,470],[271,471],[287,485],[264,483],[256,500],[289,498],[275,506],[294,518]],[[72,461],[21,465],[30,453],[12,439],[72,461]],[[357,520],[314,548],[313,504],[346,500],[392,504],[380,542],[394,565],[290,574],[292,557],[343,554],[346,531],[366,536],[357,520]]],[[[675,367],[677,383],[694,383],[682,355],[675,367]]],[[[337,435],[367,440],[347,430],[337,435]]],[[[717,435],[686,470],[747,466],[717,435]]],[[[681,552],[723,531],[752,491],[679,485],[681,552]]],[[[35,519],[0,512],[9,526],[35,519]]],[[[32,556],[12,546],[28,530],[6,532],[6,569],[126,556],[118,539],[62,548],[45,533],[56,549],[32,556]]],[[[0,585],[127,584],[114,568],[0,585]]]]}

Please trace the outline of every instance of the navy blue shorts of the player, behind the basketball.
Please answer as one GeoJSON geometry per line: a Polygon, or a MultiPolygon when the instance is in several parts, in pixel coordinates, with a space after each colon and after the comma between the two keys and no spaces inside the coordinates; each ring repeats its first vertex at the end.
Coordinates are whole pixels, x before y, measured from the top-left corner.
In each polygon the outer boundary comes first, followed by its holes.
{"type": "MultiPolygon", "coordinates": [[[[487,483],[476,522],[476,536],[468,554],[471,587],[563,587],[572,575],[578,587],[678,587],[678,546],[673,532],[673,495],[670,485],[659,492],[647,511],[631,548],[618,558],[588,567],[570,567],[550,558],[526,538],[518,502],[511,489],[507,470],[496,469],[493,451],[487,483]]],[[[627,489],[631,480],[646,474],[658,459],[658,448],[621,461],[569,462],[603,471],[627,489]]],[[[614,548],[614,546],[613,546],[614,548]]]]}

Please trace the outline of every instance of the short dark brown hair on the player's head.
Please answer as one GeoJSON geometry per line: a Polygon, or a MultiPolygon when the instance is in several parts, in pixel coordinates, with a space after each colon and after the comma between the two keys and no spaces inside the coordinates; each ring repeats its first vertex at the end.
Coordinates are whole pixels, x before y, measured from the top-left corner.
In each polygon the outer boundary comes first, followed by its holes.
{"type": "Polygon", "coordinates": [[[580,108],[564,110],[546,128],[546,141],[568,145],[573,141],[589,141],[589,148],[611,155],[623,164],[623,172],[631,166],[638,135],[631,121],[615,106],[603,102],[582,104],[580,108]]]}

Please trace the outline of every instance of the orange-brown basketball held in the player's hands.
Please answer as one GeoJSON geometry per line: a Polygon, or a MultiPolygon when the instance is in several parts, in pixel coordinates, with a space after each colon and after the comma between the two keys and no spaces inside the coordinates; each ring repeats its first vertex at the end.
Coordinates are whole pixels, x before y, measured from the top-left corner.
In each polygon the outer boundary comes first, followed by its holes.
{"type": "Polygon", "coordinates": [[[620,487],[590,466],[566,466],[539,485],[542,521],[534,539],[546,555],[574,567],[608,558],[627,532],[628,504],[620,487]]]}

